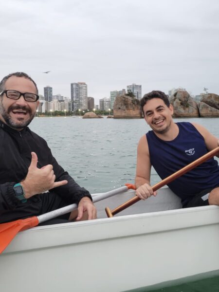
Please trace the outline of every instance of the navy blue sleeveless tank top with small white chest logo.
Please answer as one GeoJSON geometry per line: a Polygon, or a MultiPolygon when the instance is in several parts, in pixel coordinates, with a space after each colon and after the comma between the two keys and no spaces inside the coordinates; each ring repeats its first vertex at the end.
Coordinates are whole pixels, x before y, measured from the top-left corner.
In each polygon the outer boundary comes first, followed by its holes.
{"type": "MultiPolygon", "coordinates": [[[[161,140],[153,131],[146,133],[150,162],[162,180],[208,152],[204,138],[191,123],[176,124],[179,134],[172,141],[161,140]]],[[[219,186],[218,162],[211,158],[168,186],[184,205],[202,190],[219,186]]]]}

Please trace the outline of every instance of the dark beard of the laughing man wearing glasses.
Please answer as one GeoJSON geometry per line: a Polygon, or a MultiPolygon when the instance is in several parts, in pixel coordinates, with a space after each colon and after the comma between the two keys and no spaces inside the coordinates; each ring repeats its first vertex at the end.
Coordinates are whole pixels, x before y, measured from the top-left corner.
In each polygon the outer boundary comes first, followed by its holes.
{"type": "Polygon", "coordinates": [[[10,128],[13,128],[13,129],[22,129],[26,126],[28,126],[31,121],[33,120],[34,116],[35,116],[35,113],[33,114],[32,113],[32,110],[30,109],[30,107],[20,107],[20,106],[10,106],[8,108],[8,110],[6,110],[3,106],[3,103],[2,103],[2,99],[0,99],[0,114],[2,116],[2,118],[4,119],[5,123],[10,127],[10,128]],[[29,114],[30,117],[29,119],[27,120],[23,120],[23,118],[13,118],[10,116],[10,112],[12,110],[25,110],[26,111],[26,114],[29,114]]]}

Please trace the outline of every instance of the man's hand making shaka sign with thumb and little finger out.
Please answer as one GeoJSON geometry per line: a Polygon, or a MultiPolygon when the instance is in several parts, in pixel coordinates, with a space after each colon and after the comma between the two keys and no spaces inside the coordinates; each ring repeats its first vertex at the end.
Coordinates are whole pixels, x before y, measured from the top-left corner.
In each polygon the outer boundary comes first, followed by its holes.
{"type": "Polygon", "coordinates": [[[24,197],[26,199],[68,183],[68,181],[55,182],[53,165],[48,164],[42,168],[37,168],[37,154],[35,152],[31,152],[31,155],[32,159],[28,168],[27,176],[20,183],[24,189],[24,197]]]}

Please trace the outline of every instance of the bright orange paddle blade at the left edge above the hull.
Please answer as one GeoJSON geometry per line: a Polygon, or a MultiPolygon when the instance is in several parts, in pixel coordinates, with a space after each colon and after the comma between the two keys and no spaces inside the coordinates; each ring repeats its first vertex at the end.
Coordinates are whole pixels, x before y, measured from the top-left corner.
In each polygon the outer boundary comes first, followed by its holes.
{"type": "Polygon", "coordinates": [[[38,218],[35,216],[0,224],[0,254],[19,231],[35,227],[38,223],[38,218]]]}

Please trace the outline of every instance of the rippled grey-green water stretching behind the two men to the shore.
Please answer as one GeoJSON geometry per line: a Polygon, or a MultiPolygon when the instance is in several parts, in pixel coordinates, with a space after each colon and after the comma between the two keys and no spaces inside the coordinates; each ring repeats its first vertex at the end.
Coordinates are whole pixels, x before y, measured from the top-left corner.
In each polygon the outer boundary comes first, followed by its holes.
{"type": "MultiPolygon", "coordinates": [[[[196,122],[219,137],[219,118],[175,119],[196,122]]],[[[137,145],[150,128],[144,119],[35,118],[30,128],[45,138],[58,163],[91,193],[134,183],[137,145]]],[[[159,176],[152,169],[151,183],[159,176]]]]}

